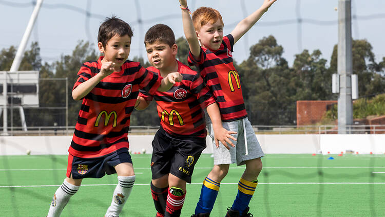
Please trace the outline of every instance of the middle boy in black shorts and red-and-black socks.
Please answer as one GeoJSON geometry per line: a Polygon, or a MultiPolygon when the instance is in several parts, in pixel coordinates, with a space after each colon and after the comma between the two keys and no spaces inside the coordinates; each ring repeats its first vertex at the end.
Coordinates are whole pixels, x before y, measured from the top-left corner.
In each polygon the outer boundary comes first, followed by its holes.
{"type": "MultiPolygon", "coordinates": [[[[222,128],[219,108],[200,75],[176,60],[178,47],[174,32],[163,24],[151,27],[145,41],[148,61],[160,77],[179,71],[183,79],[167,92],[141,92],[138,110],[155,99],[161,128],[152,141],[151,194],[156,216],[180,216],[186,195],[186,182],[191,183],[194,166],[206,148],[206,125],[202,107],[213,120],[215,138],[224,144],[235,139],[222,128]]],[[[234,145],[234,144],[233,144],[234,145]]]]}

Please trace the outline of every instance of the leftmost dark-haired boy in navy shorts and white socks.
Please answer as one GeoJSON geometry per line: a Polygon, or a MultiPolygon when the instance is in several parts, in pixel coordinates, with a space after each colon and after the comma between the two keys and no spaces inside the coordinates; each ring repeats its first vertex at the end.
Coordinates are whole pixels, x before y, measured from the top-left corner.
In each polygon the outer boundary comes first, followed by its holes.
{"type": "Polygon", "coordinates": [[[72,97],[83,100],[69,147],[67,177],[53,195],[48,217],[60,216],[83,178],[101,178],[118,173],[118,185],[105,216],[119,216],[135,181],[127,133],[130,115],[139,89],[149,93],[167,91],[182,76],[157,74],[126,61],[132,30],[116,17],[107,18],[99,28],[98,61],[84,63],[73,86],[72,97]]]}

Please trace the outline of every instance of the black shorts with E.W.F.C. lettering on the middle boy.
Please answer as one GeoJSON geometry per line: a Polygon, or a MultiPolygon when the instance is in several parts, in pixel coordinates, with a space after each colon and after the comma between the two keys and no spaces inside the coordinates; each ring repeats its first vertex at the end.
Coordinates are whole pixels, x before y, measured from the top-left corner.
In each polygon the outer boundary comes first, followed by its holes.
{"type": "Polygon", "coordinates": [[[152,179],[171,173],[191,183],[194,166],[206,148],[206,140],[196,137],[182,139],[176,139],[162,128],[158,130],[152,141],[152,179]]]}

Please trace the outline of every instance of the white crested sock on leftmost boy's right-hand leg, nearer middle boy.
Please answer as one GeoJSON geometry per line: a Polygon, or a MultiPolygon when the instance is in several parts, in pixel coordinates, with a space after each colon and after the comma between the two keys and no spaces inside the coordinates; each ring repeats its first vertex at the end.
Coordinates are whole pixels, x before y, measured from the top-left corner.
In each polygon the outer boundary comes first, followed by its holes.
{"type": "Polygon", "coordinates": [[[113,191],[112,202],[106,212],[106,217],[117,217],[123,209],[128,197],[130,196],[135,175],[118,176],[119,184],[113,191]]]}

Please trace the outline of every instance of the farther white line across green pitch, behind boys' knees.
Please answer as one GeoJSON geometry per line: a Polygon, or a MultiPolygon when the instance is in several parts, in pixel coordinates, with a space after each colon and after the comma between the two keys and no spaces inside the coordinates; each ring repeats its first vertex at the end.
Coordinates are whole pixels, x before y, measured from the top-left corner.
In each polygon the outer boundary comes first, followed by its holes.
{"type": "MultiPolygon", "coordinates": [[[[385,167],[263,167],[263,169],[370,169],[370,168],[379,168],[385,169],[385,167]]],[[[134,168],[134,170],[146,170],[150,167],[139,167],[134,168]]],[[[213,169],[212,167],[195,167],[194,169],[213,169]]],[[[245,169],[245,167],[230,167],[230,169],[245,169]]],[[[0,171],[44,171],[44,170],[67,170],[67,169],[0,169],[0,171]]],[[[142,174],[142,173],[138,173],[142,174]]]]}

